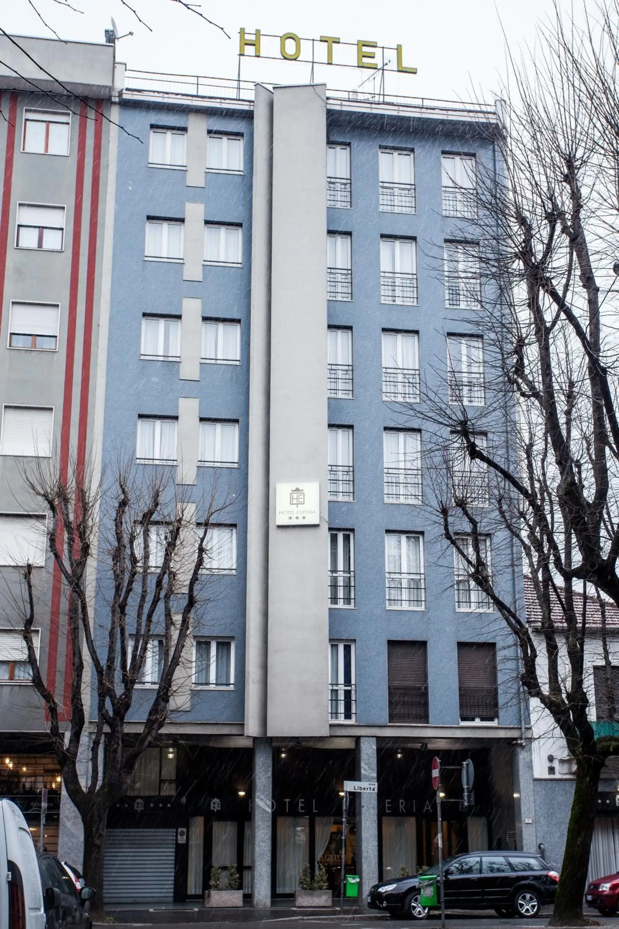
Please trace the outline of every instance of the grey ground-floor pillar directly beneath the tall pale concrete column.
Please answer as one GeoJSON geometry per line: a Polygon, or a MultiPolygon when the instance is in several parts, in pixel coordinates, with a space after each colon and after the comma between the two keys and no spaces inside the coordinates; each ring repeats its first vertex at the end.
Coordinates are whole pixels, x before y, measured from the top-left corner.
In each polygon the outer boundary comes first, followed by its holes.
{"type": "Polygon", "coordinates": [[[253,877],[251,906],[271,906],[271,824],[273,797],[273,747],[271,739],[253,739],[251,779],[251,843],[253,877]]]}

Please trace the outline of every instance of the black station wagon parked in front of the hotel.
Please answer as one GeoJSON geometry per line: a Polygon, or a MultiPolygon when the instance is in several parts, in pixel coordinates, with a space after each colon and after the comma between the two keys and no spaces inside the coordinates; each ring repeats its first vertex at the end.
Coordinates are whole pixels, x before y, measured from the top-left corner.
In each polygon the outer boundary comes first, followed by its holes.
{"type": "MultiPolygon", "coordinates": [[[[438,875],[438,865],[425,871],[438,875]]],[[[534,917],[557,893],[559,874],[526,852],[471,852],[443,863],[445,909],[494,909],[498,916],[534,917]]],[[[440,898],[439,898],[440,899],[440,898]]],[[[381,881],[370,887],[368,907],[390,916],[424,920],[419,877],[381,881]]]]}

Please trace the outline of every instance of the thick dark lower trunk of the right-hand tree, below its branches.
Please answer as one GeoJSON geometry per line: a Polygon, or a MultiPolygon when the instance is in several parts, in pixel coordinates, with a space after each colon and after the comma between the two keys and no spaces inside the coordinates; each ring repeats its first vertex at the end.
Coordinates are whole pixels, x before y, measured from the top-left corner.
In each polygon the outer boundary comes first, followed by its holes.
{"type": "Polygon", "coordinates": [[[598,782],[603,764],[598,758],[588,758],[576,765],[574,799],[565,839],[561,881],[552,917],[548,922],[551,926],[587,925],[588,922],[583,916],[583,897],[587,886],[598,782]]]}

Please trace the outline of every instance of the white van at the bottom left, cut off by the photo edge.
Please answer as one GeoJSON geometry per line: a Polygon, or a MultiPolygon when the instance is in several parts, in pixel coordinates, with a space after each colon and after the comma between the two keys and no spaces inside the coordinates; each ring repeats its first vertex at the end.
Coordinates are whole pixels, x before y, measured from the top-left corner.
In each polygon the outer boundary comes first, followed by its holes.
{"type": "Polygon", "coordinates": [[[41,875],[19,807],[0,799],[0,929],[45,929],[41,875]],[[7,888],[8,893],[6,893],[7,888]]]}

